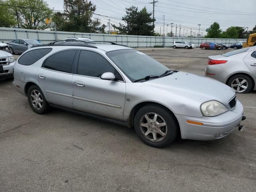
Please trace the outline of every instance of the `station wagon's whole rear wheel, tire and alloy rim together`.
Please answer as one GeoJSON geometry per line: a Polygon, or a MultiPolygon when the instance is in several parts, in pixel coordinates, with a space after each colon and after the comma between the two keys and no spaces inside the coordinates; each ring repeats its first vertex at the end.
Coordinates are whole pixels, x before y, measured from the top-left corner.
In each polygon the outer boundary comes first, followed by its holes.
{"type": "Polygon", "coordinates": [[[32,85],[28,88],[28,103],[32,110],[38,114],[44,114],[50,109],[44,94],[36,85],[32,85]]]}

